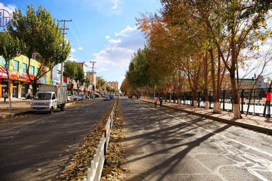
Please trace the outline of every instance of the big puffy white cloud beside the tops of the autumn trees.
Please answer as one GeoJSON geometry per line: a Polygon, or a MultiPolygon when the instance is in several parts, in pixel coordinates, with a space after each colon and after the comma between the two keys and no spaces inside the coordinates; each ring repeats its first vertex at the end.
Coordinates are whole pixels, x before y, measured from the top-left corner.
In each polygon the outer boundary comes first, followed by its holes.
{"type": "Polygon", "coordinates": [[[115,33],[115,39],[110,39],[108,42],[104,50],[94,54],[99,66],[103,63],[111,63],[118,67],[127,67],[133,53],[143,48],[146,41],[137,27],[126,27],[115,33]]]}

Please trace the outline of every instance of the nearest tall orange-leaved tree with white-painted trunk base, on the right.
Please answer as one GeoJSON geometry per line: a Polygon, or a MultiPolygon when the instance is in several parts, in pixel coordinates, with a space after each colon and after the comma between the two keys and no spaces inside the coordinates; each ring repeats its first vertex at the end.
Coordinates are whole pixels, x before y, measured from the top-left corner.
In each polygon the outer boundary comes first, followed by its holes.
{"type": "Polygon", "coordinates": [[[197,17],[199,23],[206,24],[211,33],[211,40],[230,72],[234,118],[240,118],[237,88],[239,76],[236,77],[239,54],[244,48],[256,48],[256,42],[264,41],[271,33],[266,29],[266,18],[269,17],[271,2],[263,0],[161,0],[161,2],[169,12],[173,11],[173,8],[181,7],[179,13],[197,17]],[[224,51],[226,45],[229,54],[224,51]]]}

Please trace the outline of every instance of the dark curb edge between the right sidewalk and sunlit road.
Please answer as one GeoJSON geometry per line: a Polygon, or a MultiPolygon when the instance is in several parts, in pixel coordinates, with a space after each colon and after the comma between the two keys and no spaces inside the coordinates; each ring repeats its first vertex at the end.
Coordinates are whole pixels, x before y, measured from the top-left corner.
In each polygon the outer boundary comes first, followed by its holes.
{"type": "MultiPolygon", "coordinates": [[[[150,102],[150,101],[146,101],[146,100],[140,100],[140,101],[144,101],[144,102],[152,104],[152,102],[150,102]]],[[[187,111],[187,110],[182,110],[182,109],[178,109],[178,108],[172,108],[170,106],[165,106],[165,105],[162,105],[162,107],[173,109],[173,110],[176,110],[176,111],[182,111],[184,113],[188,113],[188,114],[191,114],[191,115],[195,115],[195,116],[199,116],[199,117],[211,119],[211,120],[218,121],[218,122],[227,123],[227,124],[230,124],[230,125],[235,125],[235,126],[240,126],[240,127],[243,127],[243,128],[248,128],[248,129],[251,129],[253,131],[257,130],[257,131],[265,133],[265,134],[272,134],[272,129],[264,128],[264,127],[261,127],[261,126],[256,126],[256,125],[252,125],[252,124],[246,124],[246,123],[236,122],[236,121],[227,120],[227,119],[223,119],[223,118],[218,118],[218,117],[214,117],[214,116],[210,116],[210,115],[204,115],[204,114],[195,113],[195,112],[191,112],[191,111],[187,111]]]]}

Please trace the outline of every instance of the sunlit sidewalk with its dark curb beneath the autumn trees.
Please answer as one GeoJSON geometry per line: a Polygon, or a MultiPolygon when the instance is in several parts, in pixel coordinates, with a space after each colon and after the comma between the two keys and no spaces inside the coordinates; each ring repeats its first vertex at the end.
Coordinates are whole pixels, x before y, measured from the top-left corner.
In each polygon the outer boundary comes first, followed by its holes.
{"type": "MultiPolygon", "coordinates": [[[[143,99],[139,100],[154,104],[153,101],[143,99]]],[[[158,105],[160,105],[160,103],[158,105]]],[[[241,114],[243,119],[234,119],[232,112],[222,111],[222,114],[213,114],[212,109],[206,110],[204,108],[193,108],[191,106],[177,105],[173,103],[164,102],[163,107],[186,112],[188,114],[193,114],[200,117],[205,117],[219,122],[228,123],[231,125],[257,130],[266,134],[272,134],[272,118],[241,114]]]]}

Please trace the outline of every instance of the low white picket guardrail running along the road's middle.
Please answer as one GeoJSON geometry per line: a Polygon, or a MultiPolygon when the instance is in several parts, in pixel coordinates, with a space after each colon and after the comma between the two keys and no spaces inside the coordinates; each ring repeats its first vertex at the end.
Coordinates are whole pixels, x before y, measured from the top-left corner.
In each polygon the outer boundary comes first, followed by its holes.
{"type": "Polygon", "coordinates": [[[113,124],[113,118],[114,118],[114,113],[116,110],[117,103],[118,103],[118,98],[116,103],[113,106],[113,109],[111,111],[111,114],[105,126],[105,128],[107,129],[106,137],[105,137],[105,133],[103,133],[102,138],[99,141],[98,148],[96,149],[96,153],[94,154],[93,160],[91,161],[91,167],[88,168],[87,170],[87,177],[84,178],[83,181],[99,181],[100,180],[102,170],[103,170],[103,165],[106,159],[106,151],[107,151],[107,147],[109,143],[111,128],[113,124]]]}

